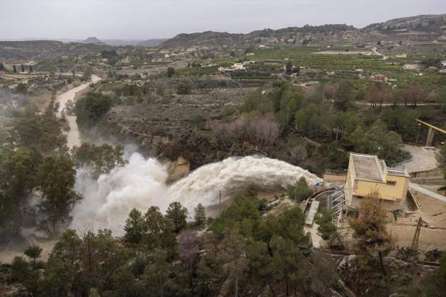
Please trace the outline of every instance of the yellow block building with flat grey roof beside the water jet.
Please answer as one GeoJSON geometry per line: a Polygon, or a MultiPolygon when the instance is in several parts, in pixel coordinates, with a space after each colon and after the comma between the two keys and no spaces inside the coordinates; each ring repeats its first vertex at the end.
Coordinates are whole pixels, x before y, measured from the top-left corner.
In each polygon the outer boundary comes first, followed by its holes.
{"type": "Polygon", "coordinates": [[[363,197],[376,193],[385,209],[404,209],[409,177],[406,170],[387,168],[384,160],[377,156],[350,153],[345,204],[358,206],[363,197]]]}

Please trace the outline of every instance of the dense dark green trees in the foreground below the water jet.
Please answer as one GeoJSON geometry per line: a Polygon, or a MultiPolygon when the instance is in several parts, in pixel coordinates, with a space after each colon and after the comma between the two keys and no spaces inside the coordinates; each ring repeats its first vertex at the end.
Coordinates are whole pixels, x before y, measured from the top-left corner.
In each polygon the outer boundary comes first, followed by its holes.
{"type": "Polygon", "coordinates": [[[65,231],[46,263],[35,262],[40,255],[35,247],[26,254],[31,262],[16,258],[11,278],[33,296],[342,292],[331,261],[311,250],[299,208],[261,216],[258,200],[241,196],[210,223],[210,231],[198,237],[202,221],[185,226],[181,207],[171,204],[166,216],[154,206],[145,214],[132,210],[122,245],[107,230],[65,231]],[[36,270],[40,267],[45,268],[42,276],[36,270]]]}

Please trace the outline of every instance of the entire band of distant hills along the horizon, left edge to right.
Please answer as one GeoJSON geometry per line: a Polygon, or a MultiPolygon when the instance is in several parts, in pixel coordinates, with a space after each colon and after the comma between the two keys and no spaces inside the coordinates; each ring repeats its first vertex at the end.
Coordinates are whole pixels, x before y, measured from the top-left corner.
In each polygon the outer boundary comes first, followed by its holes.
{"type": "Polygon", "coordinates": [[[178,34],[175,37],[152,40],[99,40],[88,37],[83,42],[64,43],[55,40],[1,41],[1,60],[51,59],[93,54],[111,50],[111,46],[161,47],[169,50],[188,50],[207,54],[209,50],[225,52],[254,47],[297,45],[376,45],[377,41],[446,44],[446,14],[395,18],[384,23],[374,23],[365,28],[351,25],[305,25],[278,30],[263,29],[248,34],[205,31],[178,34]]]}

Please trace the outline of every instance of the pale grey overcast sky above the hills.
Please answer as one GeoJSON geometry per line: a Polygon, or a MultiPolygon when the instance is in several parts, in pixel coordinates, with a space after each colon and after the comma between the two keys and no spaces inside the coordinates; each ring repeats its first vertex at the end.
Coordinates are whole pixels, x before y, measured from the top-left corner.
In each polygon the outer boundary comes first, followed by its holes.
{"type": "Polygon", "coordinates": [[[0,0],[0,39],[150,39],[446,13],[446,0],[0,0]]]}

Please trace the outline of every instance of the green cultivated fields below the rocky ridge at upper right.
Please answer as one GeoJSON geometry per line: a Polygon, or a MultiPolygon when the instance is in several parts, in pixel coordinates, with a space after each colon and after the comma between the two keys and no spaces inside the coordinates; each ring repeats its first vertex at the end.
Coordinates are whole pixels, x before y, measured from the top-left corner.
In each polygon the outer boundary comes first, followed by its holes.
{"type": "MultiPolygon", "coordinates": [[[[270,68],[273,72],[281,71],[288,61],[295,66],[303,66],[306,68],[317,69],[318,74],[312,77],[321,82],[338,81],[339,79],[351,79],[370,83],[370,76],[383,74],[388,78],[394,78],[397,81],[392,82],[396,86],[415,86],[433,90],[446,84],[446,75],[439,74],[438,70],[422,69],[421,71],[407,71],[404,64],[418,64],[421,59],[426,57],[444,57],[440,54],[445,52],[444,45],[417,46],[410,47],[407,51],[407,58],[392,57],[397,53],[396,50],[385,51],[388,55],[387,60],[382,60],[381,56],[365,54],[315,54],[316,52],[326,51],[326,47],[284,47],[270,50],[257,50],[254,56],[241,56],[235,58],[218,58],[215,63],[219,66],[230,66],[239,60],[254,60],[255,64],[249,66],[250,69],[270,68]],[[277,61],[278,59],[282,62],[277,61]],[[360,80],[360,76],[355,69],[362,69],[364,72],[364,80],[360,80]],[[334,71],[334,74],[328,76],[326,73],[334,71]],[[422,73],[420,75],[419,73],[422,73]]],[[[354,51],[354,47],[343,47],[342,49],[330,50],[350,50],[354,51]]],[[[401,52],[400,49],[398,49],[401,52]]],[[[382,50],[379,50],[382,52],[382,50]]]]}

